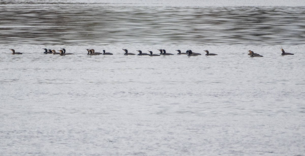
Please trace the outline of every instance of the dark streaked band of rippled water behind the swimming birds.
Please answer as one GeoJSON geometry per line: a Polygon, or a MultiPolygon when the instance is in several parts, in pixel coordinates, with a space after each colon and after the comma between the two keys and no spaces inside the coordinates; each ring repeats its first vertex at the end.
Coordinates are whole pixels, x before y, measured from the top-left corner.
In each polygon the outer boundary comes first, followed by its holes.
{"type": "Polygon", "coordinates": [[[300,45],[305,38],[304,1],[299,6],[46,2],[2,4],[2,43],[300,45]]]}

